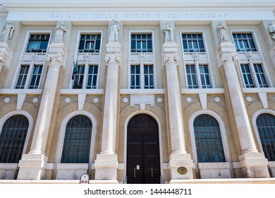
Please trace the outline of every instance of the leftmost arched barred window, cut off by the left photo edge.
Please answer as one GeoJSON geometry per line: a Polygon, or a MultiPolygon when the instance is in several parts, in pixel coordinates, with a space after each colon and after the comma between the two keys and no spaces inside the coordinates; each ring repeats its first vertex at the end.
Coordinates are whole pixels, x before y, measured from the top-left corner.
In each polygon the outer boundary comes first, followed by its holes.
{"type": "Polygon", "coordinates": [[[24,115],[13,115],[0,134],[0,163],[18,163],[23,153],[29,121],[24,115]]]}

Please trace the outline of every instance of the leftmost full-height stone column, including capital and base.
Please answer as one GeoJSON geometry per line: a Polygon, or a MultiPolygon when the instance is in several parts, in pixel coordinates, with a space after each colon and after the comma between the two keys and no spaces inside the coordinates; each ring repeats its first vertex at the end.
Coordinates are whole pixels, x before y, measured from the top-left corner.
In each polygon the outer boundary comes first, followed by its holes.
{"type": "Polygon", "coordinates": [[[23,154],[19,161],[20,167],[18,180],[40,180],[44,178],[46,156],[46,145],[51,125],[51,116],[54,110],[56,88],[59,81],[60,67],[63,65],[64,56],[63,43],[49,45],[48,57],[49,71],[44,85],[41,104],[39,107],[35,132],[32,138],[30,152],[23,154]]]}

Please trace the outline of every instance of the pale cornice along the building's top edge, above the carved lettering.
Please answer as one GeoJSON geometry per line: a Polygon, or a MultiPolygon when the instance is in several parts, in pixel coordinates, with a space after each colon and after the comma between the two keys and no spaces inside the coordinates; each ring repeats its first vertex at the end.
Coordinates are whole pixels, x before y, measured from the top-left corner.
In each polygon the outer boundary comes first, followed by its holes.
{"type": "Polygon", "coordinates": [[[245,0],[231,0],[231,1],[221,1],[221,0],[139,0],[139,1],[126,1],[126,0],[100,0],[100,1],[76,1],[76,0],[1,0],[3,7],[7,10],[25,10],[25,9],[51,9],[51,10],[66,10],[66,9],[119,9],[123,10],[128,8],[137,10],[138,8],[147,9],[188,9],[188,8],[202,8],[202,9],[255,9],[257,10],[272,10],[275,11],[275,1],[274,0],[250,0],[249,3],[245,0]]]}

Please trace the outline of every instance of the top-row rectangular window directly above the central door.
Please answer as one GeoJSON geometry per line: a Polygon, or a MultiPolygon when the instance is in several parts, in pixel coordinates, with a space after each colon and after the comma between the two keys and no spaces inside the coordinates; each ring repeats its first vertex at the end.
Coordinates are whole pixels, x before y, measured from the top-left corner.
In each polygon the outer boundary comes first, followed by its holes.
{"type": "Polygon", "coordinates": [[[153,52],[152,34],[132,34],[131,52],[153,52]]]}

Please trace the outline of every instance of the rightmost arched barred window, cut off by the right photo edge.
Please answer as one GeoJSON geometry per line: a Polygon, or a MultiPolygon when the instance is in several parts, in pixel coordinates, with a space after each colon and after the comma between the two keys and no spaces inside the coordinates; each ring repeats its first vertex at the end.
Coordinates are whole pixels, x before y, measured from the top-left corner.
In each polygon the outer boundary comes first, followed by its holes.
{"type": "Polygon", "coordinates": [[[264,155],[268,161],[275,161],[275,116],[262,113],[257,117],[256,125],[264,155]]]}

